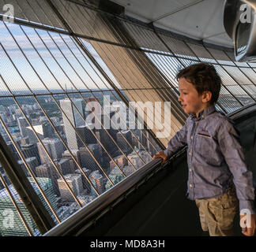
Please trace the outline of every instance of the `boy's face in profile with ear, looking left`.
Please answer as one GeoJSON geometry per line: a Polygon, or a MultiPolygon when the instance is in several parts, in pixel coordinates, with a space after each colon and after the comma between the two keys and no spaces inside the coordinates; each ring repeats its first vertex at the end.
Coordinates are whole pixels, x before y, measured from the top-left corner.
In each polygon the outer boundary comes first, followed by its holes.
{"type": "Polygon", "coordinates": [[[198,113],[209,106],[211,92],[199,95],[194,85],[185,78],[179,79],[179,102],[181,102],[185,113],[198,113]]]}

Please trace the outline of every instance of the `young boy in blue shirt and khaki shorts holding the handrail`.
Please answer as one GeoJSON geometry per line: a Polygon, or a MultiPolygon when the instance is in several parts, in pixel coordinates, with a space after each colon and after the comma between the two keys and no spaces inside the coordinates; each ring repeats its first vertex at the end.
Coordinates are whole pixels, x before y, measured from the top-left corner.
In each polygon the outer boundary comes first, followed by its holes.
{"type": "Polygon", "coordinates": [[[176,77],[179,102],[190,116],[169,141],[168,148],[153,158],[162,158],[164,164],[172,153],[187,144],[187,195],[198,206],[202,230],[210,236],[233,235],[232,225],[239,205],[240,210],[250,211],[247,216],[240,215],[240,219],[242,223],[248,218],[242,232],[252,236],[253,176],[239,143],[239,133],[232,121],[214,106],[220,94],[220,76],[213,65],[200,63],[181,70],[176,77]]]}

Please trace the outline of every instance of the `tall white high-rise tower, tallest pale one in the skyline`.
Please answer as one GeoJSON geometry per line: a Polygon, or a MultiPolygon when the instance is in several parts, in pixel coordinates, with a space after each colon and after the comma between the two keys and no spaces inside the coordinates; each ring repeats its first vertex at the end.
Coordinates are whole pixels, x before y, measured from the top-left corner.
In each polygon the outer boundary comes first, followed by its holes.
{"type": "Polygon", "coordinates": [[[80,114],[77,110],[81,113],[84,117],[83,106],[82,106],[82,99],[72,98],[73,104],[77,107],[77,109],[73,106],[70,102],[70,99],[60,100],[60,106],[64,113],[62,113],[64,128],[66,132],[66,139],[68,146],[71,150],[78,150],[78,137],[76,134],[75,128],[85,125],[85,121],[81,118],[80,114]],[[69,121],[70,120],[70,121],[69,121]]]}

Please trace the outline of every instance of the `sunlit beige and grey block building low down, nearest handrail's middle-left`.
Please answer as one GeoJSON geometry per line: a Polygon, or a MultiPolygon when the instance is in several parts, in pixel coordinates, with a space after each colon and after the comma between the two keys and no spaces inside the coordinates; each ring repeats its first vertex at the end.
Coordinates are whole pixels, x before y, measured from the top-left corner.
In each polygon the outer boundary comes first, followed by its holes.
{"type": "MultiPolygon", "coordinates": [[[[66,183],[69,184],[71,190],[73,191],[74,195],[81,195],[84,192],[81,174],[67,174],[64,176],[66,183]]],[[[58,179],[58,190],[60,192],[62,201],[65,202],[73,202],[74,198],[70,193],[69,188],[66,186],[66,183],[62,178],[58,179]]]]}

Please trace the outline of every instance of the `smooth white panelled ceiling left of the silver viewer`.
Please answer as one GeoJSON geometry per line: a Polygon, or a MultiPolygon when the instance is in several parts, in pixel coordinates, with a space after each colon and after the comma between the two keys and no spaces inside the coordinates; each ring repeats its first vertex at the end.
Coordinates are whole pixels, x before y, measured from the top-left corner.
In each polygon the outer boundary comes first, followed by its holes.
{"type": "Polygon", "coordinates": [[[126,15],[205,43],[233,47],[224,30],[224,0],[111,0],[126,15]]]}

